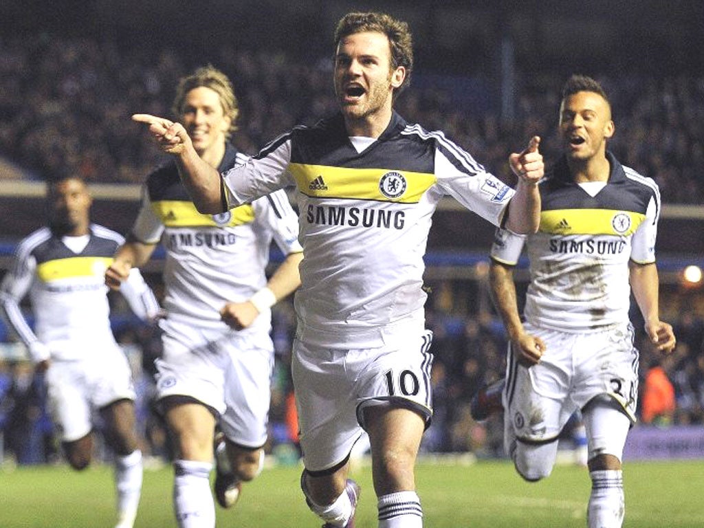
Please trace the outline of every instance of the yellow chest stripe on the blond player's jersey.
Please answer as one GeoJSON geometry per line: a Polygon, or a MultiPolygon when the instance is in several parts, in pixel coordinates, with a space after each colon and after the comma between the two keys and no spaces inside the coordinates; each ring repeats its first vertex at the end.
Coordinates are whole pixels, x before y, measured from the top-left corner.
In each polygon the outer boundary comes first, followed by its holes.
{"type": "Polygon", "coordinates": [[[254,220],[250,205],[236,207],[220,215],[199,213],[192,202],[182,200],[155,201],[154,213],[166,227],[225,227],[249,224],[254,220]]]}

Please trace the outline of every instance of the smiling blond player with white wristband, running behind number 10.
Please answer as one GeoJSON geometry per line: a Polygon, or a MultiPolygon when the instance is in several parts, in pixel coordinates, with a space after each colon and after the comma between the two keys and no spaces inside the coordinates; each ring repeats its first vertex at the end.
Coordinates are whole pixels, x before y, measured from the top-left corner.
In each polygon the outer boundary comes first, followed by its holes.
{"type": "MultiPolygon", "coordinates": [[[[182,78],[173,112],[213,170],[246,163],[229,142],[238,107],[225,74],[206,66],[182,78]]],[[[208,475],[216,424],[222,434],[215,441],[215,497],[223,508],[262,469],[274,364],[270,307],[300,284],[297,237],[284,191],[201,214],[170,162],[147,178],[132,232],[106,273],[107,283],[119,287],[159,241],[165,246],[157,398],[175,437],[174,509],[181,528],[215,526],[208,475]],[[286,258],[267,282],[272,239],[286,258]]]]}

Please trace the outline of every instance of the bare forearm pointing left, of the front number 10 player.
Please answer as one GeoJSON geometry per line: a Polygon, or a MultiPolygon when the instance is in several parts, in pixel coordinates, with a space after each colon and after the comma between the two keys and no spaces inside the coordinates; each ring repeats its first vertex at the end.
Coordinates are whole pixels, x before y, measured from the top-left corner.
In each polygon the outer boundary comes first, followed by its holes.
{"type": "Polygon", "coordinates": [[[149,125],[159,148],[175,157],[181,180],[196,209],[201,213],[222,213],[225,201],[220,174],[198,155],[183,125],[146,113],[136,113],[132,120],[149,125]]]}

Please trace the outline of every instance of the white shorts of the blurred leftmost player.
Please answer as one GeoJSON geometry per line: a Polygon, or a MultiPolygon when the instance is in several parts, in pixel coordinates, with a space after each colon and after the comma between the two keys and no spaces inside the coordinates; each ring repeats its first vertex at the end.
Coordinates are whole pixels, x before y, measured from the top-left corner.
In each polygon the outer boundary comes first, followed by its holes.
{"type": "Polygon", "coordinates": [[[132,371],[117,344],[80,360],[52,360],[46,371],[49,408],[61,441],[91,432],[95,410],[119,400],[134,401],[132,371]]]}

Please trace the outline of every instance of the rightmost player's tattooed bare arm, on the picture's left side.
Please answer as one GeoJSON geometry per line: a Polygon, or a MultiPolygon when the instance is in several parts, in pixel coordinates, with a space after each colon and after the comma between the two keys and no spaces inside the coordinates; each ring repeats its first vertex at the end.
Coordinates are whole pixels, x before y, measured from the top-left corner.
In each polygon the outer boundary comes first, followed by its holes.
{"type": "Polygon", "coordinates": [[[513,344],[514,351],[520,355],[518,361],[525,367],[530,367],[539,363],[546,347],[541,338],[527,334],[523,327],[518,314],[513,268],[514,266],[492,260],[489,268],[489,285],[494,305],[508,333],[508,339],[513,344]]]}

